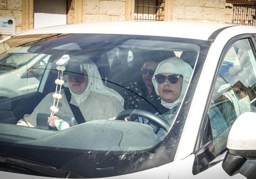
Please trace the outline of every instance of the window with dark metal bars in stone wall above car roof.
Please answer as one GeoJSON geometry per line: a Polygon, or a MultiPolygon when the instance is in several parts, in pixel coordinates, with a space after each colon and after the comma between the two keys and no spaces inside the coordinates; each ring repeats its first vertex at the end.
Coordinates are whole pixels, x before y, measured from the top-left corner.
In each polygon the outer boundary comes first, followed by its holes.
{"type": "Polygon", "coordinates": [[[135,0],[135,21],[164,20],[162,0],[135,0]]]}

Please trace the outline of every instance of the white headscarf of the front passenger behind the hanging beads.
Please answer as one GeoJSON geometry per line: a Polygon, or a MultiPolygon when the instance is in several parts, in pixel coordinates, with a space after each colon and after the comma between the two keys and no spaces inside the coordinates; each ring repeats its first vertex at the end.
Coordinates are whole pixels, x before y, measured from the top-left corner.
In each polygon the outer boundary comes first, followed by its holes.
{"type": "MultiPolygon", "coordinates": [[[[89,95],[91,91],[98,92],[101,94],[108,95],[110,97],[116,97],[118,101],[121,103],[122,106],[124,106],[124,98],[121,97],[121,95],[116,92],[115,90],[106,87],[103,84],[103,81],[100,77],[99,70],[97,66],[94,64],[93,61],[91,61],[89,58],[87,58],[85,61],[80,61],[84,65],[84,69],[87,71],[88,75],[88,84],[84,92],[81,94],[75,94],[70,89],[70,93],[78,103],[78,106],[81,102],[83,102],[89,95]]],[[[68,85],[68,83],[67,83],[68,85]]]]}

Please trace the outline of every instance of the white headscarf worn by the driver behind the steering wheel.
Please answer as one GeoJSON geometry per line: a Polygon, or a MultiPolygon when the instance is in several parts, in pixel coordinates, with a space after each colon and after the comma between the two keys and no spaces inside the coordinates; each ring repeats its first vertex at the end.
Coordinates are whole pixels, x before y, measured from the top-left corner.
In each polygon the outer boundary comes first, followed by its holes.
{"type": "Polygon", "coordinates": [[[181,90],[180,97],[176,101],[171,102],[171,103],[165,102],[161,99],[161,104],[164,107],[171,109],[172,107],[176,106],[178,103],[180,103],[182,101],[183,96],[187,90],[188,82],[192,75],[192,71],[193,71],[192,67],[177,56],[172,57],[172,58],[167,58],[166,60],[161,61],[158,64],[158,66],[154,72],[153,78],[152,78],[152,82],[153,82],[155,91],[158,96],[159,96],[159,92],[158,92],[158,88],[157,88],[157,81],[156,81],[155,75],[157,75],[159,73],[174,73],[174,74],[182,74],[183,75],[183,83],[182,83],[182,90],[181,90]]]}

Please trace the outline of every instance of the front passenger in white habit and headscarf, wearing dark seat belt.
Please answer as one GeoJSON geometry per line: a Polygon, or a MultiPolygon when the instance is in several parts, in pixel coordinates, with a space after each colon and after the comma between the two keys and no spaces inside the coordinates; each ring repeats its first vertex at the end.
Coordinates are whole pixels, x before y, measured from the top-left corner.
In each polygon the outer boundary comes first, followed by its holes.
{"type": "MultiPolygon", "coordinates": [[[[71,61],[68,63],[72,63],[71,61]]],[[[98,119],[109,119],[123,111],[124,99],[113,89],[104,86],[99,71],[93,61],[87,59],[83,64],[76,65],[84,70],[83,74],[69,73],[66,80],[71,93],[70,103],[77,106],[85,121],[98,119]]],[[[77,67],[75,68],[77,69],[77,67]]],[[[64,84],[65,86],[65,84],[64,84]]],[[[18,125],[36,127],[37,113],[49,113],[52,106],[52,94],[49,93],[37,105],[31,115],[25,114],[24,118],[18,121],[18,125]]],[[[58,103],[57,115],[74,117],[68,104],[64,90],[61,91],[62,98],[58,103]]]]}

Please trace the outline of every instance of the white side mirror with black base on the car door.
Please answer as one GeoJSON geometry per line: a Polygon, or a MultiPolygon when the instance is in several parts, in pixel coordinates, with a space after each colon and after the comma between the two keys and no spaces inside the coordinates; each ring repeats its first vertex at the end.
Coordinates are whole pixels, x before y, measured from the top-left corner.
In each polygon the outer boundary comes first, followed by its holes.
{"type": "Polygon", "coordinates": [[[241,114],[230,129],[227,153],[222,168],[230,176],[237,174],[243,164],[256,160],[256,113],[241,114]]]}

